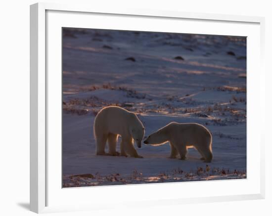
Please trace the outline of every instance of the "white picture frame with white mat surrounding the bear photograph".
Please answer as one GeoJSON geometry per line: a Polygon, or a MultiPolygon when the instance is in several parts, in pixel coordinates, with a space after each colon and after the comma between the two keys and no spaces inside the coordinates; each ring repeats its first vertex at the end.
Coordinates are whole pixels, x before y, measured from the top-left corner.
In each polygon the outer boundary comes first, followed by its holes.
{"type": "MultiPolygon", "coordinates": [[[[63,15],[63,14],[62,14],[63,15]]],[[[61,15],[61,16],[62,16],[61,15]]],[[[86,17],[85,17],[86,18],[86,17]]],[[[62,20],[63,21],[63,20],[62,20]]],[[[155,22],[155,21],[154,21],[155,22]]],[[[125,21],[124,21],[125,23],[125,21]]],[[[236,16],[236,15],[224,15],[224,14],[206,14],[206,13],[190,13],[190,12],[181,12],[181,11],[157,11],[152,9],[136,9],[136,8],[119,8],[118,10],[112,10],[111,8],[104,7],[93,7],[92,5],[79,5],[79,4],[54,4],[54,3],[36,3],[30,6],[30,210],[36,213],[49,213],[49,212],[59,212],[59,211],[80,211],[80,210],[93,210],[93,209],[101,209],[107,203],[107,208],[114,208],[114,206],[134,206],[139,203],[144,206],[154,206],[154,205],[169,205],[169,204],[182,204],[182,203],[201,203],[201,202],[219,202],[219,201],[236,201],[236,200],[249,200],[249,199],[263,199],[265,197],[265,153],[264,153],[264,134],[262,130],[259,128],[255,128],[254,124],[264,122],[265,116],[265,71],[264,71],[264,23],[265,19],[263,17],[251,17],[251,16],[236,16]],[[52,13],[51,13],[51,12],[52,13]],[[48,12],[51,15],[48,15],[48,12]],[[99,17],[117,15],[118,20],[122,23],[124,18],[128,19],[129,17],[133,17],[133,19],[167,19],[167,22],[174,22],[172,20],[185,20],[191,22],[203,22],[208,23],[210,25],[207,29],[199,28],[198,33],[206,33],[206,34],[217,34],[215,25],[220,25],[221,22],[229,23],[229,25],[239,24],[241,26],[249,26],[249,32],[252,31],[256,37],[260,40],[252,41],[249,40],[248,43],[251,45],[252,49],[257,50],[259,52],[254,53],[255,59],[249,56],[247,65],[248,72],[250,76],[248,77],[247,84],[250,86],[253,85],[255,81],[255,92],[247,91],[247,97],[249,99],[252,97],[253,99],[260,100],[258,103],[254,103],[252,100],[248,100],[248,115],[249,122],[247,133],[256,129],[257,132],[254,135],[250,135],[251,140],[256,143],[256,149],[251,145],[248,146],[248,153],[251,154],[252,151],[256,152],[255,165],[253,166],[250,161],[248,161],[247,169],[255,170],[255,175],[247,175],[248,178],[246,181],[241,183],[241,180],[231,180],[231,186],[241,188],[241,184],[246,185],[248,187],[248,192],[245,190],[237,190],[237,193],[233,193],[233,191],[229,190],[227,193],[213,193],[213,195],[208,194],[207,191],[203,191],[199,194],[195,193],[192,195],[188,195],[188,192],[184,190],[184,183],[179,184],[179,188],[183,188],[184,194],[176,194],[175,196],[171,195],[171,193],[167,194],[167,191],[173,190],[173,188],[177,187],[177,183],[168,183],[168,184],[154,184],[154,185],[126,185],[126,186],[104,186],[104,187],[93,187],[93,188],[70,188],[70,189],[62,189],[59,188],[59,169],[54,170],[51,166],[51,162],[58,164],[61,161],[61,155],[59,152],[52,154],[52,148],[48,149],[48,142],[50,142],[51,137],[58,137],[61,139],[61,134],[52,134],[48,133],[51,130],[50,121],[48,120],[48,116],[50,116],[50,109],[52,107],[52,103],[48,103],[49,100],[58,100],[57,96],[54,99],[52,96],[52,90],[58,91],[61,88],[61,82],[58,82],[59,79],[56,78],[56,81],[51,82],[51,78],[47,76],[47,71],[50,70],[51,66],[48,64],[48,60],[50,61],[50,47],[48,47],[48,40],[55,40],[52,42],[55,47],[59,47],[59,43],[61,38],[55,38],[53,35],[50,35],[50,28],[52,30],[54,28],[59,29],[62,25],[62,19],[59,18],[58,13],[64,13],[66,22],[73,22],[71,25],[77,25],[74,27],[83,28],[84,23],[83,20],[80,21],[80,16],[85,16],[88,14],[98,15],[99,17]],[[70,15],[69,15],[70,14],[70,15]],[[69,20],[69,16],[73,14],[73,21],[69,20]],[[54,18],[54,25],[50,18],[54,18]],[[78,17],[78,18],[77,18],[78,17]],[[81,23],[79,26],[78,23],[81,23]],[[214,25],[214,27],[213,27],[214,25]],[[252,29],[250,30],[250,26],[252,29]],[[256,32],[256,29],[258,30],[256,32]],[[255,44],[253,44],[255,43],[255,44]],[[254,60],[254,61],[250,61],[254,60]],[[252,62],[252,64],[251,64],[252,62]],[[253,63],[254,62],[254,63],[253,63]],[[253,73],[252,69],[258,70],[258,73],[253,73]],[[48,92],[48,86],[51,90],[48,92]],[[254,110],[261,109],[263,114],[259,114],[258,116],[254,116],[254,110]],[[250,115],[251,114],[251,115],[250,115]],[[59,157],[59,158],[58,158],[59,157]],[[50,175],[48,175],[50,174],[50,175]],[[56,174],[54,177],[53,174],[56,174]],[[53,177],[53,178],[52,178],[53,177]],[[251,182],[252,180],[252,182],[251,182]],[[183,186],[182,186],[183,185],[183,186]],[[56,190],[57,187],[57,190],[56,190]],[[75,197],[79,197],[79,195],[83,195],[83,199],[86,198],[86,194],[90,192],[90,189],[93,193],[99,194],[101,196],[96,196],[94,200],[86,200],[83,202],[81,199],[73,200],[74,205],[69,205],[68,201],[66,202],[65,196],[69,196],[69,194],[73,194],[75,197]],[[158,198],[158,194],[156,191],[160,189],[165,191],[165,196],[163,199],[158,198]],[[104,200],[103,194],[106,193],[107,190],[112,192],[117,192],[120,194],[118,196],[118,200],[113,203],[109,203],[108,200],[104,200]],[[56,192],[53,192],[56,191],[56,192]],[[141,191],[149,191],[154,192],[153,195],[147,196],[144,199],[141,198],[141,191]],[[134,197],[122,197],[122,194],[126,193],[134,193],[134,197]],[[186,194],[187,193],[187,194],[186,194]],[[61,197],[60,197],[61,196],[61,197]],[[134,199],[135,198],[135,199],[134,199]],[[60,202],[61,200],[61,202],[60,202]],[[103,205],[101,204],[103,200],[103,205]],[[129,200],[129,201],[128,201],[129,200]],[[50,204],[52,203],[52,204],[50,204]]],[[[120,23],[118,23],[119,25],[120,23]]],[[[100,24],[97,23],[96,27],[98,28],[100,24]]],[[[103,28],[111,29],[113,24],[105,24],[103,28]]],[[[115,28],[117,24],[114,24],[115,28]]],[[[156,26],[156,25],[154,25],[156,26]]],[[[65,25],[67,27],[67,25],[65,25]]],[[[70,26],[68,26],[70,27],[70,26]]],[[[87,26],[88,27],[88,26],[87,26]]],[[[148,29],[140,29],[144,28],[142,26],[135,26],[136,30],[147,31],[148,29]]],[[[156,27],[154,27],[156,28],[156,27]]],[[[162,28],[162,27],[158,27],[162,28]]],[[[123,29],[127,29],[125,24],[123,29]]],[[[227,29],[227,28],[226,28],[227,29]]],[[[59,30],[60,31],[60,30],[59,30]]],[[[151,30],[154,31],[154,30],[151,30]]],[[[169,30],[166,30],[169,31],[169,30]]],[[[192,30],[186,30],[185,33],[189,33],[192,30]]],[[[226,30],[227,31],[227,30],[226,30]]],[[[237,35],[239,36],[247,36],[246,32],[243,32],[243,29],[234,29],[232,31],[237,31],[237,35]],[[241,35],[242,34],[242,35],[241,35]]],[[[52,31],[51,31],[52,32],[52,31]]],[[[227,34],[227,33],[226,33],[227,34]]],[[[252,37],[253,38],[253,37],[252,37]]],[[[251,46],[249,46],[251,47],[251,46]]],[[[59,52],[54,56],[54,59],[59,60],[59,52]]],[[[56,69],[59,69],[58,66],[54,66],[56,69]]],[[[58,71],[61,73],[61,71],[58,71]]],[[[61,102],[61,101],[60,101],[61,102]]],[[[61,104],[61,103],[60,103],[61,104]]],[[[60,113],[61,115],[61,113],[60,113]]],[[[56,121],[59,122],[61,116],[54,116],[56,121]]],[[[58,129],[56,133],[58,133],[58,129]]],[[[252,134],[252,133],[250,133],[252,134]]],[[[249,139],[249,138],[248,138],[249,139]]],[[[61,145],[61,143],[59,143],[61,145]]],[[[59,149],[59,148],[58,148],[59,149]]],[[[61,153],[61,152],[60,152],[61,153]]],[[[252,158],[252,157],[251,157],[252,158]]],[[[58,164],[56,167],[59,167],[58,164]]],[[[188,182],[185,183],[188,188],[188,191],[191,187],[201,187],[203,183],[207,188],[215,185],[216,188],[220,188],[223,186],[228,187],[229,184],[227,181],[209,181],[209,182],[188,182]],[[223,183],[221,183],[223,182],[223,183]],[[225,183],[224,183],[225,182],[225,183]],[[191,185],[191,186],[190,186],[191,185]]]]}

